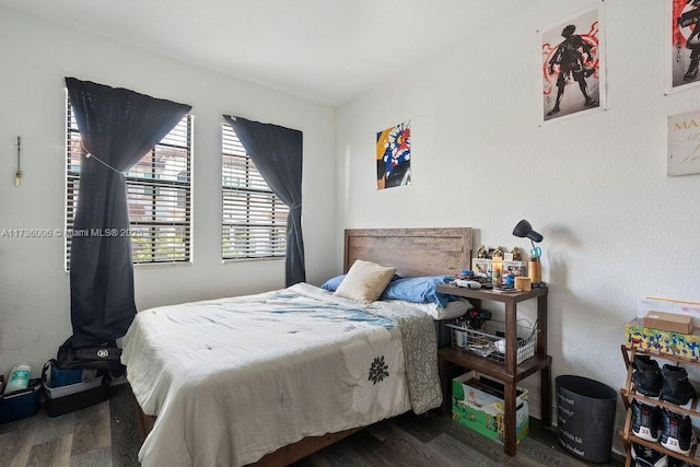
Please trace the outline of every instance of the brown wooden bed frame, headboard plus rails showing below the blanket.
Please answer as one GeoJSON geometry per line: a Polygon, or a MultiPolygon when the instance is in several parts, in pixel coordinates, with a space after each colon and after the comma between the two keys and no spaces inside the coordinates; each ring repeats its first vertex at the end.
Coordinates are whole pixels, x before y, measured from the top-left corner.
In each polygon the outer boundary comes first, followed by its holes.
{"type": "MultiPolygon", "coordinates": [[[[405,278],[455,273],[471,265],[471,227],[346,230],[343,271],[347,272],[355,259],[364,259],[394,267],[396,273],[405,278]]],[[[136,398],[133,400],[145,437],[153,429],[155,417],[144,415],[136,398]]],[[[360,430],[362,427],[304,437],[252,465],[289,465],[360,430]]]]}

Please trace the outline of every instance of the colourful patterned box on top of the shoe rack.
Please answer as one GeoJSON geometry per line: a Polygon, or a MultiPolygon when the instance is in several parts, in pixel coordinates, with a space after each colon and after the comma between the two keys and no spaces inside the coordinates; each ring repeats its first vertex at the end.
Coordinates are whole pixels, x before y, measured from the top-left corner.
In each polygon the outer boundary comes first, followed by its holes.
{"type": "Polygon", "coordinates": [[[625,329],[630,347],[700,362],[700,328],[693,328],[691,334],[673,332],[644,327],[642,318],[634,318],[625,329]]]}

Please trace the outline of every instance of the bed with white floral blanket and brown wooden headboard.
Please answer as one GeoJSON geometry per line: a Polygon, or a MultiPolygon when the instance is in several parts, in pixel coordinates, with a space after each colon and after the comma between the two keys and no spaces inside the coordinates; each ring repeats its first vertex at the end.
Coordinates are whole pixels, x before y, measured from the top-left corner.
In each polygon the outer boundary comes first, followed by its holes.
{"type": "MultiPolygon", "coordinates": [[[[345,232],[348,277],[355,262],[401,278],[447,275],[470,256],[469,227],[345,232]]],[[[122,343],[145,434],[139,460],[287,465],[380,420],[438,408],[433,324],[401,301],[306,283],[142,311],[122,343]]]]}

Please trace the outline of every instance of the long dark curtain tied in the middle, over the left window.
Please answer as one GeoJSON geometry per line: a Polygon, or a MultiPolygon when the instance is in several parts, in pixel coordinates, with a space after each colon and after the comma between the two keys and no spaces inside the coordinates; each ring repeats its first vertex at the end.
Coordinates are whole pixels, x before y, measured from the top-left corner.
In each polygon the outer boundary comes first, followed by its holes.
{"type": "Polygon", "coordinates": [[[121,172],[139,162],[191,107],[74,78],[66,78],[66,84],[89,153],[81,161],[78,234],[70,257],[73,345],[82,347],[124,336],[136,315],[121,172]]]}

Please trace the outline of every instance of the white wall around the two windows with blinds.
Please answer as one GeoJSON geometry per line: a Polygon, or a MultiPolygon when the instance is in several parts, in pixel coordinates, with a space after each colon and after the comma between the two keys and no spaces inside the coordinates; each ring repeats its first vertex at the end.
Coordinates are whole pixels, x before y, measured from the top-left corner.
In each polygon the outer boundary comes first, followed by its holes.
{"type": "MultiPolygon", "coordinates": [[[[231,45],[235,47],[235,44],[231,45]]],[[[337,273],[332,235],[335,110],[0,8],[0,232],[62,229],[65,77],[128,87],[192,106],[194,261],[136,269],[137,308],[284,285],[284,262],[221,262],[221,115],[304,132],[307,281],[337,273]],[[14,186],[16,136],[21,187],[14,186]]],[[[0,236],[0,373],[19,361],[39,375],[71,334],[61,238],[0,236]]]]}

